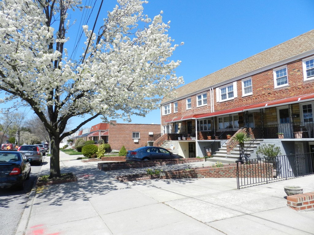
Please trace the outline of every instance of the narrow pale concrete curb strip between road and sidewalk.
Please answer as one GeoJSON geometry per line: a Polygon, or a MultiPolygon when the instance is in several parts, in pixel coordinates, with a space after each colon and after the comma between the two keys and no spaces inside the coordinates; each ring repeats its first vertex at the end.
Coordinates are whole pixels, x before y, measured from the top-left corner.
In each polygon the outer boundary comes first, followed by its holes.
{"type": "Polygon", "coordinates": [[[37,186],[36,186],[36,182],[38,180],[38,175],[36,177],[36,180],[34,182],[34,185],[32,187],[32,190],[30,191],[30,196],[29,196],[29,200],[27,201],[27,204],[25,206],[23,215],[19,221],[19,226],[16,230],[15,235],[25,235],[25,231],[28,225],[28,221],[30,219],[30,213],[32,211],[33,208],[33,201],[35,199],[35,195],[36,195],[36,191],[37,191],[37,186]]]}

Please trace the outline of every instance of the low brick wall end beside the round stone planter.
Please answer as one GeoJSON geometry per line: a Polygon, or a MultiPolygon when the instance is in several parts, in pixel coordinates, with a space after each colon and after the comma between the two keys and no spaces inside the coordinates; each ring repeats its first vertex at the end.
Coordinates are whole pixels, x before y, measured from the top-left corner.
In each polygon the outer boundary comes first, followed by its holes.
{"type": "Polygon", "coordinates": [[[314,192],[287,196],[287,205],[295,211],[314,210],[314,192]]]}

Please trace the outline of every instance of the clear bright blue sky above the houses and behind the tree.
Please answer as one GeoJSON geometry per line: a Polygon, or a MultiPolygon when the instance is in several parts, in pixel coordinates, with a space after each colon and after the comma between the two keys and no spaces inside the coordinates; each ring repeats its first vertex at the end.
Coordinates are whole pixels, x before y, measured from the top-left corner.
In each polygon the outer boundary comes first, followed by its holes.
{"type": "MultiPolygon", "coordinates": [[[[113,0],[104,1],[99,23],[115,4],[113,0]]],[[[89,21],[90,29],[97,10],[89,21]]],[[[314,29],[312,0],[151,0],[144,4],[144,14],[150,18],[161,10],[163,21],[171,20],[168,32],[171,38],[176,44],[184,42],[171,59],[182,61],[176,74],[183,76],[185,84],[314,29]]],[[[72,18],[78,14],[76,12],[72,18]]],[[[79,19],[75,27],[78,24],[79,19]]],[[[76,33],[68,36],[74,43],[76,33]]],[[[73,118],[72,127],[82,120],[73,118]]],[[[84,127],[100,122],[101,119],[96,118],[84,127]]],[[[117,122],[123,121],[118,119],[117,122]]],[[[160,110],[150,112],[145,118],[134,116],[131,123],[160,124],[160,110]]]]}

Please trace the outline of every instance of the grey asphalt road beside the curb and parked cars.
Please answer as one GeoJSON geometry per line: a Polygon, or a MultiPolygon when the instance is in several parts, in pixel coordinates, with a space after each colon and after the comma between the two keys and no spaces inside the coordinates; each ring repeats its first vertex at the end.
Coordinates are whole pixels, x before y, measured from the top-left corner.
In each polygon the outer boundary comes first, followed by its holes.
{"type": "MultiPolygon", "coordinates": [[[[44,164],[47,164],[45,156],[43,156],[41,165],[44,164]]],[[[0,235],[14,235],[16,233],[41,165],[31,165],[30,179],[25,181],[23,191],[0,188],[0,235]]]]}

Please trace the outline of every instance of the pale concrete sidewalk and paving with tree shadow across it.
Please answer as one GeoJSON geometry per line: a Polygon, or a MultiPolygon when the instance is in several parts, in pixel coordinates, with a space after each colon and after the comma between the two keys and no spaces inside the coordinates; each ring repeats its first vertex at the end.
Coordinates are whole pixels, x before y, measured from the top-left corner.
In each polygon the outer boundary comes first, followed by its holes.
{"type": "MultiPolygon", "coordinates": [[[[233,178],[122,183],[113,177],[145,169],[100,171],[77,157],[60,152],[62,173],[78,181],[34,190],[17,235],[314,234],[314,212],[288,208],[283,188],[314,191],[314,175],[241,190],[233,178]]],[[[41,174],[49,174],[49,160],[41,174]]]]}

